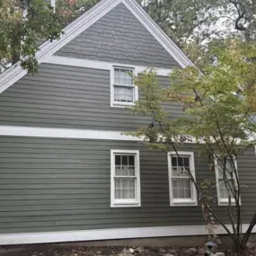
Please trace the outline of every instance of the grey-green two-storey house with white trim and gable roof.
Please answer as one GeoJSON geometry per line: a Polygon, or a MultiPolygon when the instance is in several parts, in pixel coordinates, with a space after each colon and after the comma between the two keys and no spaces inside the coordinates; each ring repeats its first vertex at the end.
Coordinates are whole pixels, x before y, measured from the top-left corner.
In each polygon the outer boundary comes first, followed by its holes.
{"type": "MultiPolygon", "coordinates": [[[[175,154],[122,135],[151,122],[127,109],[138,98],[128,71],[155,66],[164,85],[190,59],[135,0],[102,0],[64,31],[41,45],[38,75],[16,64],[0,76],[0,244],[207,234],[190,179],[173,176],[175,154]]],[[[197,181],[218,181],[198,150],[181,146],[183,163],[197,181]]],[[[249,186],[244,227],[255,212],[255,161],[254,150],[237,161],[249,186]]],[[[225,218],[225,191],[217,194],[225,218]]]]}

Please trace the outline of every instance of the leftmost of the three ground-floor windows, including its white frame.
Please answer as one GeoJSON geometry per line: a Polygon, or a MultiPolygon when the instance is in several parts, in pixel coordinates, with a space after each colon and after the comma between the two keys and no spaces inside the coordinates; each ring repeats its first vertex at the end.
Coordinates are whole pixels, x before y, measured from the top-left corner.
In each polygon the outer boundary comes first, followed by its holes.
{"type": "Polygon", "coordinates": [[[111,207],[140,207],[137,150],[111,150],[111,207]]]}

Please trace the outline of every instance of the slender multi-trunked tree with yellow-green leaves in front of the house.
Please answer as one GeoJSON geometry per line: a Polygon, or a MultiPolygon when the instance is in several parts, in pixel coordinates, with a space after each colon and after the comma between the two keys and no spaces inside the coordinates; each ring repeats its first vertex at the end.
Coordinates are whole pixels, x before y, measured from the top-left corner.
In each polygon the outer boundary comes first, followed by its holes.
{"type": "MultiPolygon", "coordinates": [[[[207,154],[209,166],[219,166],[228,198],[230,230],[214,210],[215,195],[209,193],[210,182],[198,184],[190,170],[190,179],[198,191],[207,226],[223,225],[238,252],[244,252],[256,213],[246,233],[242,232],[243,216],[240,181],[236,159],[256,144],[256,44],[228,40],[225,48],[212,49],[215,62],[202,73],[194,66],[177,69],[170,75],[171,84],[163,88],[152,68],[135,77],[142,98],[132,109],[150,116],[154,126],[139,128],[126,134],[142,137],[154,150],[174,150],[186,142],[199,145],[200,154],[207,154]],[[180,102],[184,115],[172,119],[166,104],[180,102]]],[[[170,108],[169,108],[170,109],[170,108]]]]}

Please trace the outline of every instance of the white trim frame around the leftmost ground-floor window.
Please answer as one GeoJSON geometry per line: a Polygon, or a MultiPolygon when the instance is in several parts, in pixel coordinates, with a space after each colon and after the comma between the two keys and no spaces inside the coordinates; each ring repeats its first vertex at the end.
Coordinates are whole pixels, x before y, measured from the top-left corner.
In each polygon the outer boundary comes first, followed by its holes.
{"type": "Polygon", "coordinates": [[[140,199],[140,163],[138,150],[110,150],[110,207],[141,207],[140,199]],[[137,177],[137,200],[134,199],[115,199],[115,154],[135,154],[135,175],[137,177]]]}

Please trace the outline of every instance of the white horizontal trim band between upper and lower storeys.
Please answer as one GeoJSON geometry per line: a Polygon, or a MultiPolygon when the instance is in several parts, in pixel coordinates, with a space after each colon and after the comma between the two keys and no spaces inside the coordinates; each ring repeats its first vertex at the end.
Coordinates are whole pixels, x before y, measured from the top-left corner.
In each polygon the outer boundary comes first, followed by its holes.
{"type": "Polygon", "coordinates": [[[22,137],[64,137],[139,141],[137,137],[122,135],[120,131],[73,129],[73,128],[31,128],[0,126],[0,136],[22,137]]]}

